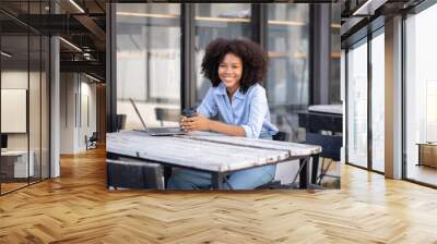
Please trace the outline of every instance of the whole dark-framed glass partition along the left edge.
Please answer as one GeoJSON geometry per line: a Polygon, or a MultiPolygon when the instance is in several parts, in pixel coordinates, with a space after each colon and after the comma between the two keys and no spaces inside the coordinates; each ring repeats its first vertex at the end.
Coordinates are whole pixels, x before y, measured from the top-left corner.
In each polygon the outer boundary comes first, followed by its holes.
{"type": "MultiPolygon", "coordinates": [[[[21,20],[47,14],[47,5],[0,3],[21,20]]],[[[47,36],[0,13],[0,194],[49,176],[49,49],[47,36]]]]}

